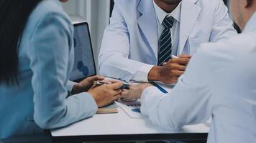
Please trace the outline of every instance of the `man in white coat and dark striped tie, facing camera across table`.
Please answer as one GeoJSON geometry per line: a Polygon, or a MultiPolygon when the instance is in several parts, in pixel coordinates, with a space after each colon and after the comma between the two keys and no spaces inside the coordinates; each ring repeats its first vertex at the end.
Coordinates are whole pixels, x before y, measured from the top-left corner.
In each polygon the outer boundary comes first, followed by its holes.
{"type": "Polygon", "coordinates": [[[100,73],[127,82],[175,83],[200,44],[237,34],[232,24],[222,0],[115,1],[100,73]]]}

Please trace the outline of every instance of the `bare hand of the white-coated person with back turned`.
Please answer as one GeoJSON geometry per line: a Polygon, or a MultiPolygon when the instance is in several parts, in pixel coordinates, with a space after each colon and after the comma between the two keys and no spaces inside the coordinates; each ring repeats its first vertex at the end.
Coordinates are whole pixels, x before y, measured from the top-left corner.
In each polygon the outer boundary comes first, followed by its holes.
{"type": "Polygon", "coordinates": [[[132,84],[129,90],[123,90],[121,98],[140,99],[142,92],[152,84],[132,84]]]}

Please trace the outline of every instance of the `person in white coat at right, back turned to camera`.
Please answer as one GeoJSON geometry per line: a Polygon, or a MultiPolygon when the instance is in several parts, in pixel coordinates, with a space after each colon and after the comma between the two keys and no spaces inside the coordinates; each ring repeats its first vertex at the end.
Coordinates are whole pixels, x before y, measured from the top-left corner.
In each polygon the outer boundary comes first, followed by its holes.
{"type": "Polygon", "coordinates": [[[172,93],[142,84],[123,97],[141,97],[142,114],[165,129],[212,117],[209,143],[256,142],[256,0],[232,9],[242,34],[202,44],[172,93]]]}

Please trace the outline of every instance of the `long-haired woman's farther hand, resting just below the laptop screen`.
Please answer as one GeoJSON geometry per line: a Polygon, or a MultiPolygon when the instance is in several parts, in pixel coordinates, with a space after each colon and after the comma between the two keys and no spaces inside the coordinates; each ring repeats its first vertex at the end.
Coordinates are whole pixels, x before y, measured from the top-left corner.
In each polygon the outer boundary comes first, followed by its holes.
{"type": "Polygon", "coordinates": [[[93,81],[102,81],[104,80],[104,77],[101,76],[93,76],[93,77],[88,77],[86,79],[83,79],[82,82],[76,84],[73,87],[72,94],[79,94],[81,92],[88,92],[91,87],[93,87],[93,81]]]}

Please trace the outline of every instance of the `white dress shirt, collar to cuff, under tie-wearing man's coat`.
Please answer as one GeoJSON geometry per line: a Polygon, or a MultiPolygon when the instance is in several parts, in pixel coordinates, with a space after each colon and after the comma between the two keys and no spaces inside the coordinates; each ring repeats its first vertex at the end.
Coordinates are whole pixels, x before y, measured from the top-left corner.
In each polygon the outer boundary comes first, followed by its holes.
{"type": "MultiPolygon", "coordinates": [[[[163,26],[163,20],[166,16],[170,17],[172,16],[174,19],[173,28],[170,29],[171,36],[172,36],[172,54],[177,55],[178,53],[178,42],[179,42],[179,35],[180,35],[180,9],[181,9],[181,3],[171,12],[167,13],[165,12],[160,6],[157,6],[155,4],[155,1],[153,1],[156,18],[157,18],[157,37],[158,37],[158,51],[160,50],[160,37],[163,33],[163,30],[165,29],[165,26],[163,26]]],[[[135,81],[142,81],[142,82],[148,82],[148,74],[150,70],[152,69],[154,65],[148,65],[145,64],[142,66],[136,74],[134,74],[134,77],[132,78],[135,81]]]]}

